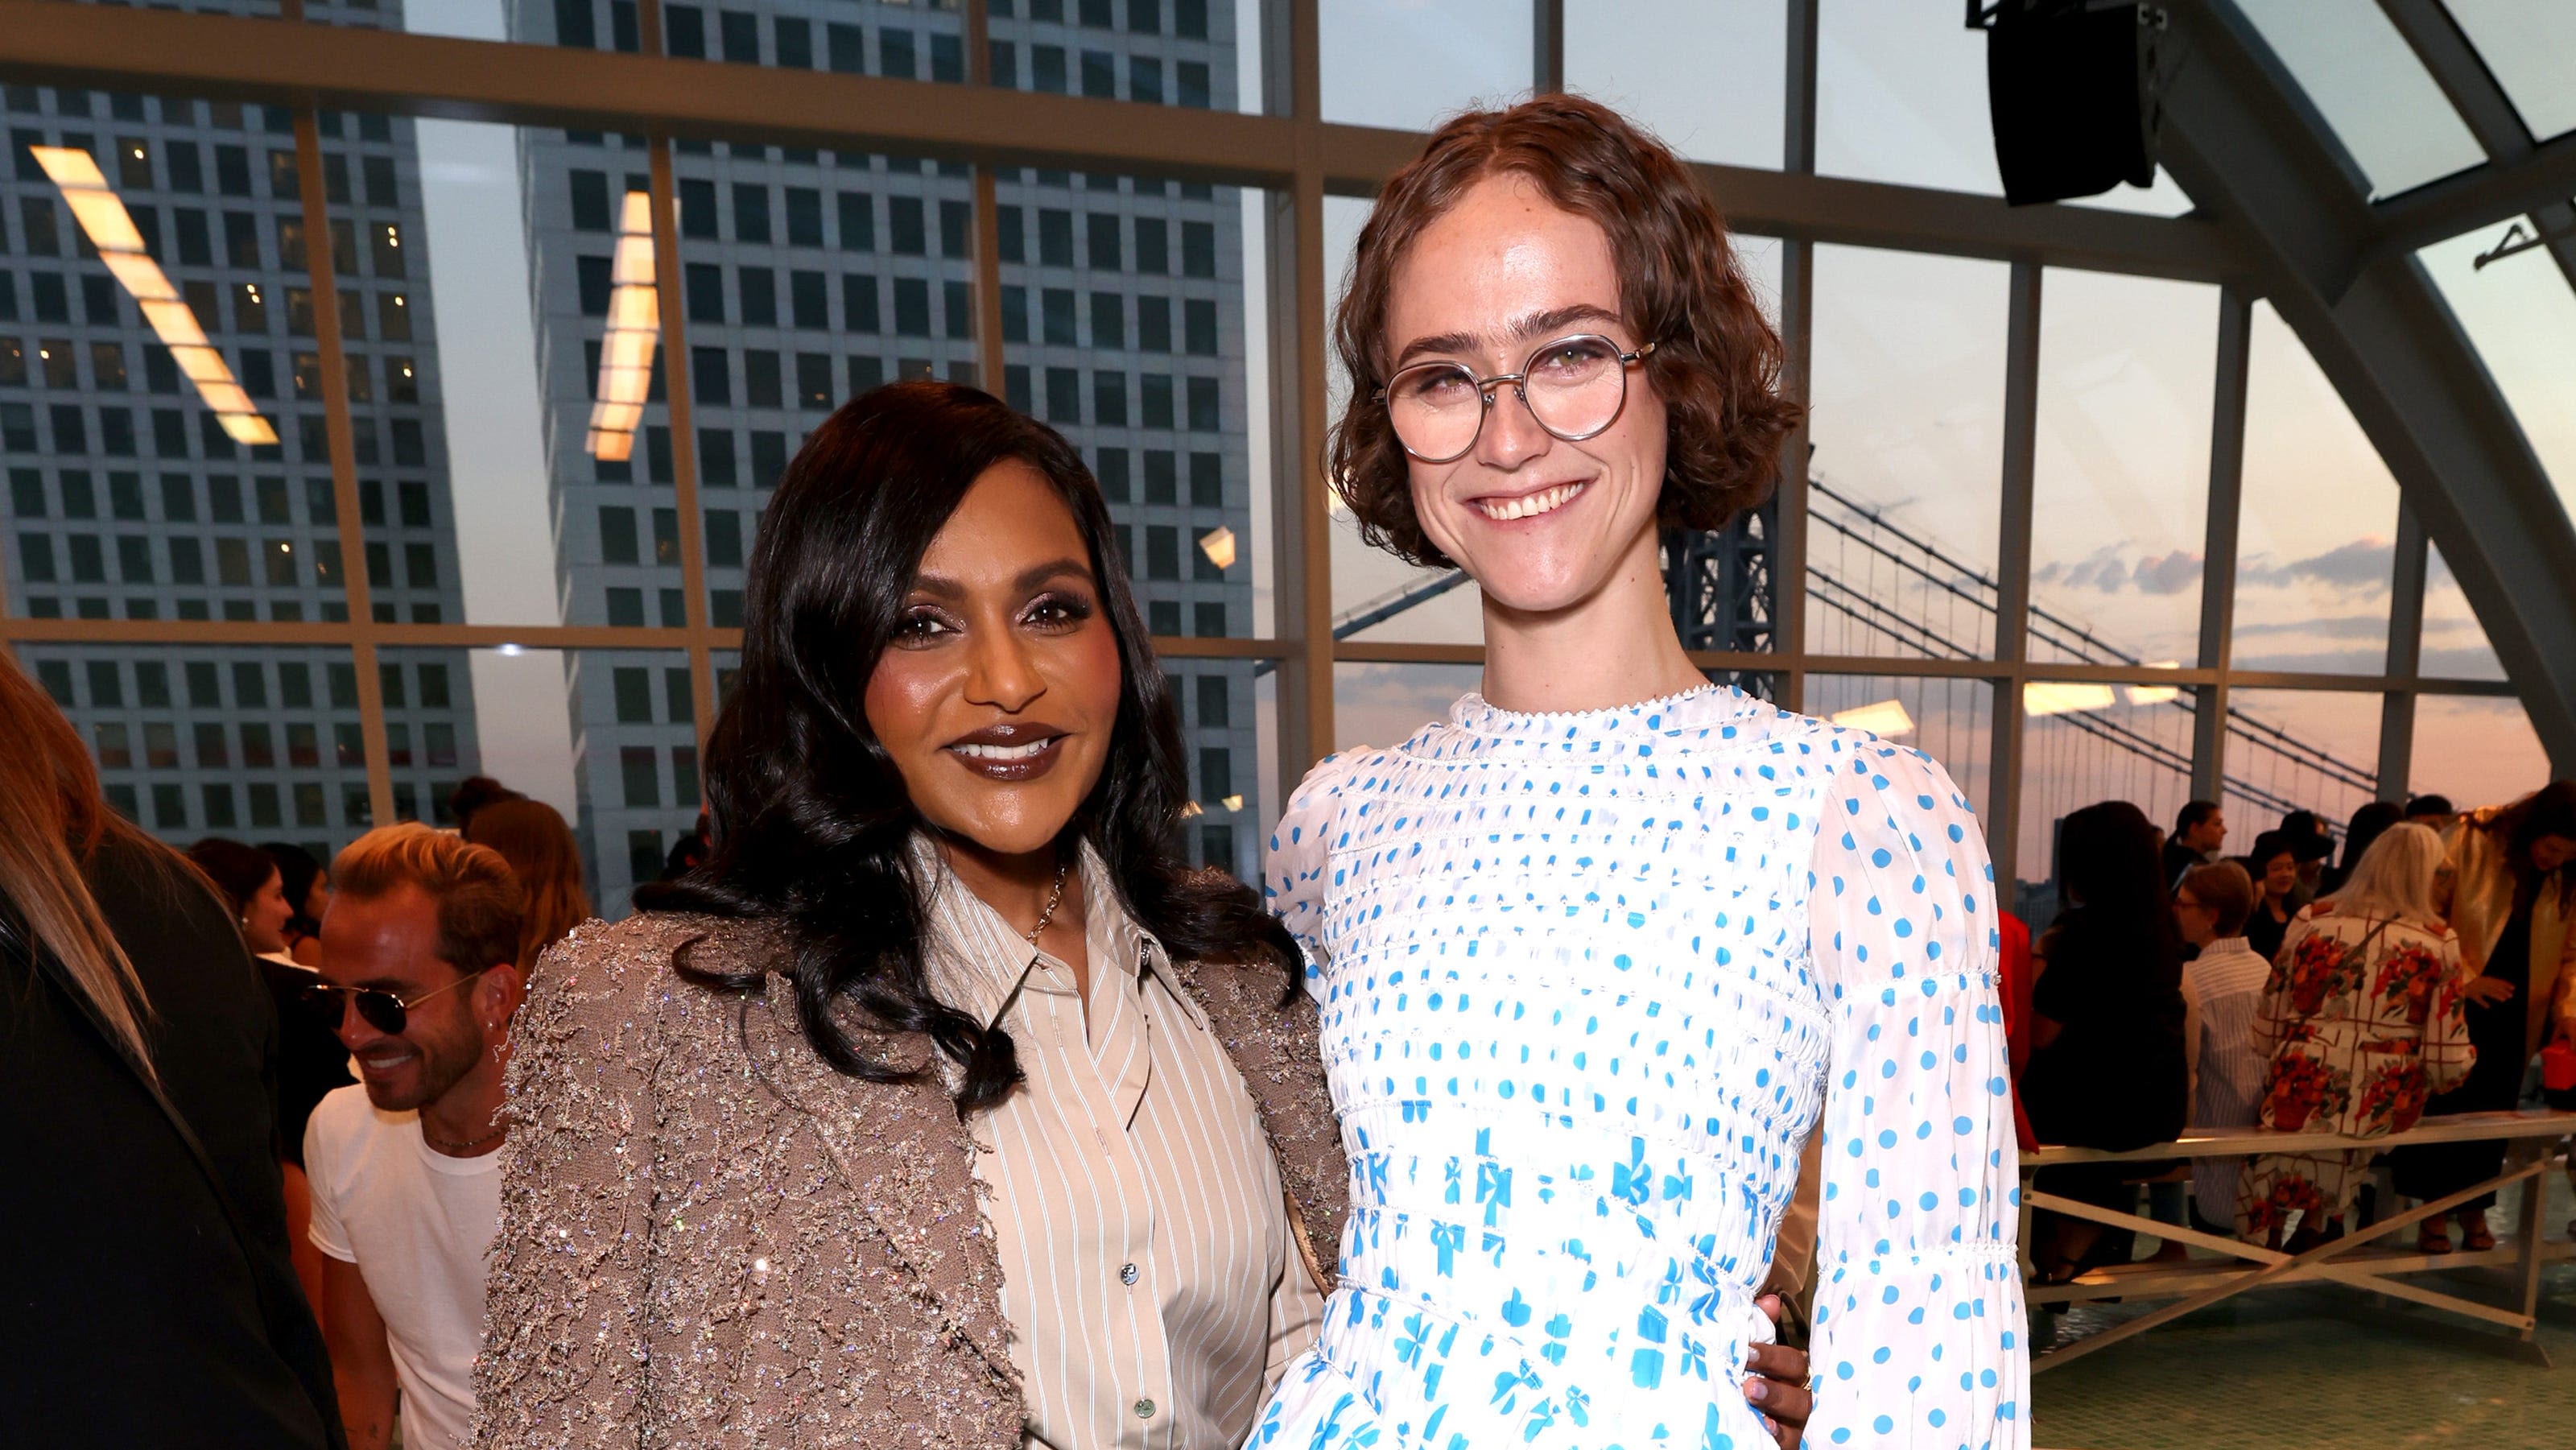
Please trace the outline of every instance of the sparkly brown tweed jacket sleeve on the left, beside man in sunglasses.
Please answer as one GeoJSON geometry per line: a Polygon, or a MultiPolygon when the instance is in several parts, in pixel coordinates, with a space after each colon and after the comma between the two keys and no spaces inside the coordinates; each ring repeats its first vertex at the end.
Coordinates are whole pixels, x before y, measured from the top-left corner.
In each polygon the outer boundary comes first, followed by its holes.
{"type": "Polygon", "coordinates": [[[474,1360],[474,1445],[652,1440],[654,1100],[636,932],[592,922],[536,966],[510,1028],[510,1141],[474,1360]]]}

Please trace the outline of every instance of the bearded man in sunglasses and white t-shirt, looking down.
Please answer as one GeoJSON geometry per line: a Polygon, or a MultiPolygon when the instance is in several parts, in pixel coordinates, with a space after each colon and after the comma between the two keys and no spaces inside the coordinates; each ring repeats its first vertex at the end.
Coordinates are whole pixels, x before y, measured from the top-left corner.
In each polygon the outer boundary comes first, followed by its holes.
{"type": "Polygon", "coordinates": [[[487,847],[420,824],[332,863],[322,984],[358,1087],[304,1128],[322,1337],[350,1450],[464,1445],[484,1252],[500,1223],[502,1066],[526,894],[487,847]]]}

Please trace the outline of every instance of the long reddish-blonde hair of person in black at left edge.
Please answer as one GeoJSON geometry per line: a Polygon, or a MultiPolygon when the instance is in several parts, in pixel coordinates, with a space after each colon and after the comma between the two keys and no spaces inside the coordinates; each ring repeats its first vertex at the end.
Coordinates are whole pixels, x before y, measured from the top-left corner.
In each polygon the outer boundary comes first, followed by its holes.
{"type": "Polygon", "coordinates": [[[52,953],[108,1038],[157,1079],[144,1043],[152,1002],[80,873],[108,837],[167,855],[108,811],[80,731],[0,652],[0,896],[23,922],[31,956],[52,953]]]}

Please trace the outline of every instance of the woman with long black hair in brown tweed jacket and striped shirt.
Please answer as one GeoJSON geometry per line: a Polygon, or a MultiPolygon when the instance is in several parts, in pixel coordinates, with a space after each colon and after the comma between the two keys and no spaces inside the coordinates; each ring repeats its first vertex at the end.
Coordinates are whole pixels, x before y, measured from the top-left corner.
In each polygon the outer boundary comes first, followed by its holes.
{"type": "Polygon", "coordinates": [[[981,391],[878,389],[744,603],[714,855],[515,1030],[482,1442],[1239,1442],[1350,1169],[1296,945],[1175,855],[1100,489],[981,391]]]}

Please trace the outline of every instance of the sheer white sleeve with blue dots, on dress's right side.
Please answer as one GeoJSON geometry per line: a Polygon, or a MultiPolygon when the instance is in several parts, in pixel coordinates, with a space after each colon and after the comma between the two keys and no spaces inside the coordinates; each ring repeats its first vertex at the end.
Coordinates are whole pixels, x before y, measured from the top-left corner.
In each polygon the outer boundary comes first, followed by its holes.
{"type": "Polygon", "coordinates": [[[2025,1450],[1994,871],[1929,757],[1857,734],[1837,755],[1808,899],[1834,1046],[1806,1442],[2025,1450]]]}

